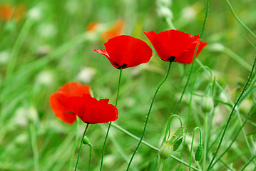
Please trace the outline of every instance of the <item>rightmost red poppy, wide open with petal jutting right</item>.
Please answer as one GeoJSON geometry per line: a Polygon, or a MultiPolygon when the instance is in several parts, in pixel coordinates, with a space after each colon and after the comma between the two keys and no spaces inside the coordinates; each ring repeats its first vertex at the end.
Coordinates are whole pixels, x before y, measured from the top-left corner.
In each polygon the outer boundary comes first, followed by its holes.
{"type": "Polygon", "coordinates": [[[208,45],[200,41],[200,36],[184,33],[183,31],[168,30],[160,33],[154,31],[145,32],[150,42],[163,61],[173,61],[179,63],[192,63],[195,48],[198,46],[198,53],[208,45]]]}

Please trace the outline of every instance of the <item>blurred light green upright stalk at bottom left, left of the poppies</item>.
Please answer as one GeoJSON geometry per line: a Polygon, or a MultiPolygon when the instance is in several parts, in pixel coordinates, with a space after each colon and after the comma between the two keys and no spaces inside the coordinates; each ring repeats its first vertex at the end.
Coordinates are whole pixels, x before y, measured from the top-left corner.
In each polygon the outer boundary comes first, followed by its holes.
{"type": "Polygon", "coordinates": [[[31,135],[31,146],[34,157],[34,169],[35,171],[39,170],[39,151],[36,143],[36,131],[34,125],[32,123],[29,125],[29,133],[31,135]]]}

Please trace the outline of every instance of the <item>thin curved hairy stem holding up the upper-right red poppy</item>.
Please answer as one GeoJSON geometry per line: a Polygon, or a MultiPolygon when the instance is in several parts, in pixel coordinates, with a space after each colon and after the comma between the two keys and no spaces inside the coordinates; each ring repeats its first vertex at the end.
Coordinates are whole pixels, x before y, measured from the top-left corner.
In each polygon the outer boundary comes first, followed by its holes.
{"type": "Polygon", "coordinates": [[[137,147],[136,147],[135,150],[133,151],[133,155],[130,157],[130,162],[128,163],[128,167],[126,168],[126,170],[129,170],[130,164],[131,164],[131,162],[133,162],[133,157],[135,156],[135,153],[137,152],[138,147],[140,146],[140,143],[141,143],[142,140],[143,140],[143,137],[144,137],[144,135],[145,135],[145,129],[147,128],[147,125],[148,125],[149,115],[150,115],[150,112],[151,112],[151,110],[152,110],[153,103],[154,103],[154,101],[155,101],[155,97],[156,97],[156,95],[158,94],[158,91],[160,90],[160,87],[163,85],[163,83],[165,83],[165,81],[167,80],[168,76],[170,75],[170,66],[172,65],[172,62],[173,62],[173,61],[170,61],[170,63],[169,63],[169,68],[168,68],[168,71],[167,71],[167,74],[166,74],[165,78],[164,78],[163,81],[160,83],[160,85],[158,86],[158,88],[156,88],[156,90],[155,90],[155,94],[154,94],[153,99],[152,99],[152,101],[151,101],[150,108],[149,108],[149,110],[148,110],[148,115],[147,115],[147,118],[146,118],[146,120],[145,120],[145,125],[144,125],[144,128],[143,128],[143,133],[142,133],[142,135],[141,135],[141,138],[140,138],[140,141],[138,142],[137,147]]]}

